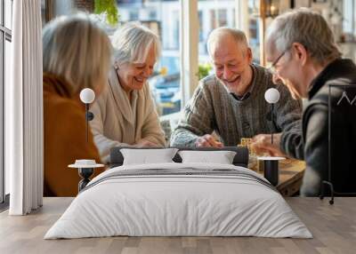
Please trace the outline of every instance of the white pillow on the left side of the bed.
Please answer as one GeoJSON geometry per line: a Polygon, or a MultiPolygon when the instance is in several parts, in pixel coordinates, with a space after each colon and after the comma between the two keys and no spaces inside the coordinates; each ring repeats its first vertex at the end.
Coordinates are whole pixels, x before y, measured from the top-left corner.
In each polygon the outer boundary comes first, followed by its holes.
{"type": "Polygon", "coordinates": [[[120,149],[124,156],[123,165],[148,164],[148,163],[174,163],[172,160],[177,153],[177,148],[163,149],[120,149]]]}

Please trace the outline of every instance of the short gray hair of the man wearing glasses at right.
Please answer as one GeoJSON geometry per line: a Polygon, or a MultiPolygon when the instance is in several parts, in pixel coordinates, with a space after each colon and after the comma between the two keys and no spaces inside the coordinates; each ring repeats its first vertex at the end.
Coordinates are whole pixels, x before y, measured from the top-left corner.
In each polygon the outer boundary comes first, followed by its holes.
{"type": "Polygon", "coordinates": [[[303,44],[319,64],[342,55],[327,21],[306,8],[279,15],[267,29],[266,46],[270,50],[285,52],[293,43],[303,44]]]}

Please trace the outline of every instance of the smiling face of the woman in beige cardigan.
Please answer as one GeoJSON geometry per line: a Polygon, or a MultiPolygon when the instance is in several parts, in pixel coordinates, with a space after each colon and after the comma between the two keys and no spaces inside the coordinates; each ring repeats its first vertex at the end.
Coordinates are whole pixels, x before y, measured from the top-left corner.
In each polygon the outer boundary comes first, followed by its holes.
{"type": "Polygon", "coordinates": [[[126,92],[141,90],[147,79],[153,73],[156,63],[156,52],[153,46],[147,53],[146,60],[139,63],[117,64],[117,75],[122,88],[126,92]]]}

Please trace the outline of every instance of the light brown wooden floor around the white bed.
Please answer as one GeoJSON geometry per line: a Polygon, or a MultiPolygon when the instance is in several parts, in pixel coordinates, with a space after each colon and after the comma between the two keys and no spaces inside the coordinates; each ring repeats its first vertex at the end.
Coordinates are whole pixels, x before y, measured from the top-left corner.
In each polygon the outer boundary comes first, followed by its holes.
{"type": "Polygon", "coordinates": [[[314,238],[109,237],[43,240],[70,198],[45,198],[44,207],[24,217],[0,214],[0,253],[356,253],[356,198],[287,198],[314,238]]]}

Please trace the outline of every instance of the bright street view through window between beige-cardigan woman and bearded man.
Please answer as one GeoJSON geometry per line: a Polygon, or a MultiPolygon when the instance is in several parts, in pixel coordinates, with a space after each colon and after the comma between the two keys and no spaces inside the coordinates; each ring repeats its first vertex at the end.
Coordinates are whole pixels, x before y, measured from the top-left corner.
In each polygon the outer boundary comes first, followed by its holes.
{"type": "Polygon", "coordinates": [[[162,56],[156,64],[156,73],[166,69],[166,75],[155,75],[150,78],[150,88],[156,100],[159,115],[167,115],[181,109],[180,87],[180,1],[119,1],[120,22],[141,21],[161,39],[162,56]],[[129,13],[137,12],[138,16],[129,13]]]}

